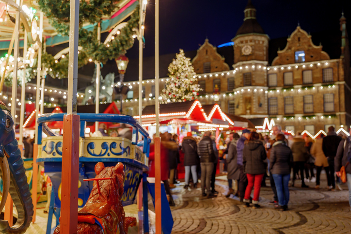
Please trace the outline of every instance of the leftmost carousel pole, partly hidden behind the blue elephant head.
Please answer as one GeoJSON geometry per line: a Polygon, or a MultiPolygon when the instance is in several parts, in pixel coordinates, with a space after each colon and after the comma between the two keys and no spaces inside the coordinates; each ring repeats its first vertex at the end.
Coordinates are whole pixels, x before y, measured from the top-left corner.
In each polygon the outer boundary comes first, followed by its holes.
{"type": "MultiPolygon", "coordinates": [[[[20,7],[20,2],[19,0],[16,1],[18,6],[20,7]]],[[[17,97],[17,71],[18,71],[18,53],[19,53],[19,9],[16,9],[16,23],[15,23],[15,29],[14,29],[14,37],[15,37],[15,48],[14,48],[14,75],[12,78],[12,101],[11,101],[11,114],[12,118],[14,120],[14,124],[16,125],[16,97],[17,97]]],[[[11,46],[12,47],[12,46],[11,46]]],[[[10,57],[10,54],[9,56],[10,57]]],[[[13,209],[14,209],[14,202],[12,201],[11,196],[7,197],[6,203],[5,203],[5,214],[4,218],[5,220],[8,220],[9,225],[13,225],[13,209]]]]}

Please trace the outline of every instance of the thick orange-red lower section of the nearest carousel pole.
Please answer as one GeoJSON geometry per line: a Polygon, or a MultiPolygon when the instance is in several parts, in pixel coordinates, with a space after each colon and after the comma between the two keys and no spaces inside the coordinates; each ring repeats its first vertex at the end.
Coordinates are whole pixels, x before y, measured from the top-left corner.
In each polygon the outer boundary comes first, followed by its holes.
{"type": "Polygon", "coordinates": [[[63,234],[78,231],[79,128],[79,115],[64,115],[60,230],[63,234]]]}

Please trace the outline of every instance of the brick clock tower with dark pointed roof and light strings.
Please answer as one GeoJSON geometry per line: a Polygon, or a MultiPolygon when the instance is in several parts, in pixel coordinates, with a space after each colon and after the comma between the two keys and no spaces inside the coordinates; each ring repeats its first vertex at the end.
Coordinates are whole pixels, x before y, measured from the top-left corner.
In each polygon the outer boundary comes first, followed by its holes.
{"type": "Polygon", "coordinates": [[[234,42],[235,114],[245,118],[267,117],[268,41],[256,20],[251,0],[244,9],[244,22],[234,42]]]}

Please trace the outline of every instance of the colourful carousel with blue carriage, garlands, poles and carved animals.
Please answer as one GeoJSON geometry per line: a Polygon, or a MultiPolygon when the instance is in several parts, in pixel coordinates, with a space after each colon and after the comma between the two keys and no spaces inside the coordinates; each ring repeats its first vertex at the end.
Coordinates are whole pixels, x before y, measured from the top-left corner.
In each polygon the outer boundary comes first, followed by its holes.
{"type": "MultiPolygon", "coordinates": [[[[84,4],[74,0],[0,1],[0,47],[7,49],[7,53],[0,58],[0,210],[4,212],[4,219],[0,220],[0,233],[38,233],[38,229],[32,227],[33,223],[47,234],[122,234],[128,233],[128,228],[135,225],[148,233],[148,191],[155,205],[156,232],[171,233],[173,220],[169,206],[161,203],[165,193],[160,174],[157,172],[153,180],[146,179],[151,139],[142,126],[142,119],[138,122],[135,118],[120,114],[114,103],[103,111],[99,107],[101,93],[104,92],[100,90],[101,87],[102,90],[109,90],[110,86],[122,89],[124,85],[123,76],[121,82],[109,84],[107,88],[102,85],[102,63],[115,60],[119,73],[123,74],[124,64],[128,63],[124,54],[137,39],[142,68],[147,3],[147,0],[117,0],[105,1],[100,6],[96,5],[100,3],[95,0],[84,4]],[[52,4],[60,10],[48,7],[52,4]],[[94,4],[96,7],[92,7],[94,4]],[[78,8],[79,11],[76,10],[78,8]],[[105,41],[101,41],[102,32],[108,32],[105,41]],[[67,42],[69,47],[56,55],[46,53],[46,47],[67,42]],[[23,53],[20,53],[22,47],[23,53]],[[95,99],[95,113],[80,113],[80,108],[77,108],[77,96],[80,96],[77,93],[77,74],[78,68],[88,62],[96,64],[96,82],[89,87],[89,91],[95,89],[94,92],[88,92],[85,98],[95,99]],[[64,93],[67,107],[54,106],[50,113],[44,114],[45,78],[48,75],[68,78],[67,94],[64,93]],[[24,104],[29,77],[36,78],[36,85],[32,86],[36,90],[35,109],[27,113],[25,119],[24,104]],[[7,90],[5,94],[2,88],[6,82],[10,84],[11,92],[7,90]],[[19,98],[17,92],[21,93],[19,98]],[[95,127],[89,125],[91,123],[95,127]],[[127,125],[132,137],[87,134],[98,131],[99,123],[127,125]],[[34,131],[35,142],[33,159],[23,160],[22,140],[26,130],[34,131]],[[38,165],[44,168],[42,177],[49,178],[46,180],[48,219],[45,223],[36,218],[40,176],[38,165]],[[126,217],[124,212],[124,207],[135,200],[139,224],[135,217],[126,217]],[[56,223],[52,222],[53,217],[56,217],[56,223]],[[89,229],[86,229],[86,225],[89,229]]],[[[158,1],[156,16],[158,38],[158,1]]],[[[158,54],[158,50],[155,52],[158,54]]],[[[156,64],[158,62],[156,60],[156,64]]],[[[139,79],[142,80],[142,69],[139,79]]],[[[141,91],[139,89],[140,95],[141,91]]],[[[141,107],[140,101],[140,112],[141,107]]],[[[156,112],[156,124],[159,125],[159,114],[156,112]]],[[[155,165],[156,171],[160,171],[158,131],[156,136],[155,165]]]]}

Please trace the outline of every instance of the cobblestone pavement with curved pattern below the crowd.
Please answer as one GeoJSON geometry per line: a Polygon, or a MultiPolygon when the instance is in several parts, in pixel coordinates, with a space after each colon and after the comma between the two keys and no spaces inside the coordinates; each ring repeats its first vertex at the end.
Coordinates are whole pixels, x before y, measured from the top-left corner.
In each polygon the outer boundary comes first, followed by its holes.
{"type": "MultiPolygon", "coordinates": [[[[178,185],[172,189],[176,202],[172,234],[351,233],[346,185],[343,191],[292,187],[289,210],[283,212],[269,204],[273,193],[267,182],[268,187],[261,189],[259,209],[244,208],[236,197],[226,198],[225,176],[216,178],[220,194],[213,199],[201,197],[201,188],[185,190],[178,185]]],[[[315,183],[307,185],[314,187],[315,183]]],[[[325,181],[321,181],[323,186],[325,181]]]]}

